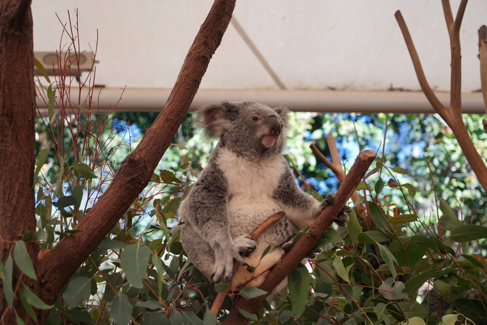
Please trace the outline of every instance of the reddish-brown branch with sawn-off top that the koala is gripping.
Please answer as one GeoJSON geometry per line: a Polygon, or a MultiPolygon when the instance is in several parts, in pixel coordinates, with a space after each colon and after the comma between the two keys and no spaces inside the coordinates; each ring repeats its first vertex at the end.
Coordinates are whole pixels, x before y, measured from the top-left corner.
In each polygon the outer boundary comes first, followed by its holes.
{"type": "MultiPolygon", "coordinates": [[[[358,155],[354,165],[335,194],[333,200],[334,204],[328,206],[321,212],[315,222],[313,222],[313,224],[310,226],[309,230],[301,236],[300,240],[294,245],[291,251],[289,251],[289,253],[287,253],[281,259],[281,261],[276,264],[274,269],[270,271],[262,286],[259,287],[260,289],[271,292],[291,271],[296,269],[306,254],[316,246],[321,235],[323,235],[332,225],[334,217],[338,215],[347,200],[355,191],[355,188],[362,177],[364,177],[365,173],[369,169],[369,166],[372,162],[374,162],[375,156],[376,153],[372,150],[364,150],[358,155]]],[[[235,305],[230,310],[230,313],[225,318],[224,324],[247,324],[248,318],[245,318],[238,309],[241,308],[250,313],[255,313],[257,308],[262,305],[265,297],[267,297],[267,294],[253,299],[237,300],[235,305]]]]}

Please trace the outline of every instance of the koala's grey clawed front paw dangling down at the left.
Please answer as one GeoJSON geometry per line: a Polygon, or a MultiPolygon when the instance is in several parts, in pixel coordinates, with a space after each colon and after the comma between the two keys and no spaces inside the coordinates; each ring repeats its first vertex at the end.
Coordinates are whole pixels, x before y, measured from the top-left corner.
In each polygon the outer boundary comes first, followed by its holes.
{"type": "MultiPolygon", "coordinates": [[[[255,242],[254,242],[255,243],[255,242]]],[[[212,245],[215,252],[215,265],[210,276],[210,286],[223,280],[224,283],[230,281],[233,275],[233,259],[235,258],[241,265],[247,266],[244,258],[240,256],[240,247],[233,242],[222,245],[214,243],[212,245]],[[223,276],[223,279],[222,279],[223,276]]]]}

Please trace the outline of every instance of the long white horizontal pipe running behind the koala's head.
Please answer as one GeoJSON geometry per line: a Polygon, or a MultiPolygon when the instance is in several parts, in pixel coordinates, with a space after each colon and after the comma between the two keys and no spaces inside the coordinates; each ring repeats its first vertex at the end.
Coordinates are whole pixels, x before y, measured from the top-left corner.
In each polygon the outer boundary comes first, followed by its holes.
{"type": "MultiPolygon", "coordinates": [[[[91,110],[160,111],[169,97],[170,89],[95,88],[91,110]],[[98,102],[99,93],[99,102],[98,102]]],[[[76,91],[72,91],[75,94],[76,91]]],[[[82,90],[82,98],[87,90],[82,90]]],[[[443,105],[450,103],[449,92],[436,92],[443,105]]],[[[73,98],[73,97],[72,97],[73,98]]],[[[308,112],[360,112],[360,113],[434,113],[434,109],[421,91],[352,91],[352,90],[215,90],[200,89],[190,110],[218,103],[222,100],[250,100],[270,107],[287,106],[292,111],[308,112]]],[[[77,103],[77,102],[76,102],[77,103]]],[[[37,99],[41,116],[47,116],[47,106],[37,99]]],[[[462,112],[485,113],[481,92],[462,93],[462,112]]],[[[73,105],[74,107],[74,105],[73,105]]],[[[85,106],[86,107],[86,106],[85,106]]]]}

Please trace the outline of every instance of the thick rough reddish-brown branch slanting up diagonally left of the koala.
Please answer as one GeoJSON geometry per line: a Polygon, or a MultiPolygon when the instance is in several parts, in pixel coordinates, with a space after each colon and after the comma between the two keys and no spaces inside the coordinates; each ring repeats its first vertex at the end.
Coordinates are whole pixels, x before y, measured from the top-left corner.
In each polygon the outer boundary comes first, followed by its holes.
{"type": "Polygon", "coordinates": [[[41,298],[46,303],[56,300],[57,293],[71,274],[148,184],[187,113],[208,63],[220,45],[234,7],[235,0],[215,0],[189,49],[166,105],[137,148],[121,163],[103,196],[76,226],[76,230],[81,232],[64,237],[36,264],[37,276],[43,287],[41,298]]]}

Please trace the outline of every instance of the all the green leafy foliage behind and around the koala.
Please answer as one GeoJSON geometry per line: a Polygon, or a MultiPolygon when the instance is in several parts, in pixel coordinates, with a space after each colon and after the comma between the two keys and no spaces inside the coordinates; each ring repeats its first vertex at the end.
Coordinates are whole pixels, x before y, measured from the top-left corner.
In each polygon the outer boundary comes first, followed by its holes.
{"type": "MultiPolygon", "coordinates": [[[[65,33],[70,37],[68,51],[74,52],[77,36],[65,33]]],[[[14,259],[0,264],[8,305],[20,299],[33,319],[34,308],[51,308],[51,325],[214,325],[225,320],[225,310],[235,299],[264,294],[250,287],[230,291],[224,310],[215,316],[209,307],[226,285],[210,288],[182,248],[179,229],[184,221],[177,209],[213,145],[190,128],[192,114],[148,187],[79,266],[53,306],[46,306],[27,286],[12,287],[14,260],[26,276],[36,278],[24,242],[37,242],[47,250],[74,234],[156,116],[95,114],[87,98],[72,100],[70,90],[76,85],[71,86],[71,66],[76,59],[66,60],[59,62],[62,73],[52,83],[38,81],[49,116],[36,126],[37,233],[24,234],[14,259]]],[[[93,78],[89,75],[85,83],[93,84],[93,78]]],[[[480,118],[466,115],[465,120],[473,141],[486,153],[480,118]]],[[[323,252],[292,271],[288,286],[269,295],[256,314],[241,309],[249,322],[485,324],[486,198],[451,130],[432,115],[296,113],[291,123],[290,165],[297,166],[303,190],[314,187],[315,196],[336,190],[338,184],[316,161],[307,141],[316,140],[329,155],[323,135],[332,132],[345,166],[359,149],[382,146],[382,152],[357,187],[362,197],[347,227],[330,229],[321,241],[323,252]]],[[[23,323],[18,318],[18,324],[23,323]]]]}

